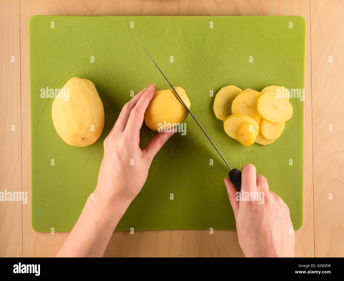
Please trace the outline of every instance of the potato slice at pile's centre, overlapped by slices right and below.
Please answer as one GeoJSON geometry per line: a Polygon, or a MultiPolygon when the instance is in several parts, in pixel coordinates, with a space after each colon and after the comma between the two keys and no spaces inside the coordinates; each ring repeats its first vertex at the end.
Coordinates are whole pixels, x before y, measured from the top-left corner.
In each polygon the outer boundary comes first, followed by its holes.
{"type": "Polygon", "coordinates": [[[232,113],[258,119],[261,116],[257,109],[257,100],[260,95],[261,93],[257,91],[247,91],[237,95],[232,103],[232,113]]]}

